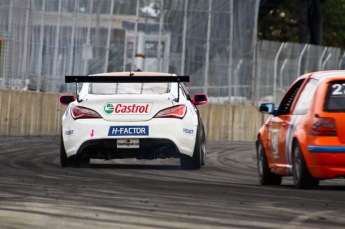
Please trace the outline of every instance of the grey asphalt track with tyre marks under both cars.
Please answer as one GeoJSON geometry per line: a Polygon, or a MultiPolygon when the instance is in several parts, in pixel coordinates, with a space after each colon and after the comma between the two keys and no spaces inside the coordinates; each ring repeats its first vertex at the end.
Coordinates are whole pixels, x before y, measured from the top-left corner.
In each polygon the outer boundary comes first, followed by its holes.
{"type": "Polygon", "coordinates": [[[91,160],[61,168],[58,139],[0,138],[0,228],[344,228],[345,180],[260,186],[253,142],[208,142],[206,165],[91,160]]]}

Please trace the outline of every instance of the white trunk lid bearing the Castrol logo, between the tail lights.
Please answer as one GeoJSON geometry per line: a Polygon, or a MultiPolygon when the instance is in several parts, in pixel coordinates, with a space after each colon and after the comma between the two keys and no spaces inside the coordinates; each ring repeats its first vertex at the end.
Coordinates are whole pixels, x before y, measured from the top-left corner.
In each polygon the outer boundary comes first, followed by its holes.
{"type": "Polygon", "coordinates": [[[160,110],[176,105],[171,94],[88,95],[77,104],[97,111],[107,121],[147,121],[160,110]]]}

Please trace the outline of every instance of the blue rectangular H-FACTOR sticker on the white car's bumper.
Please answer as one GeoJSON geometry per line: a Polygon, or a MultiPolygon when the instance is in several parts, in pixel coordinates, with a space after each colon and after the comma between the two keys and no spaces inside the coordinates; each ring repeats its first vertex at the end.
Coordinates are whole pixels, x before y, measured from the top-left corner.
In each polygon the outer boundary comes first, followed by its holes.
{"type": "Polygon", "coordinates": [[[108,136],[148,136],[148,126],[111,126],[108,136]]]}

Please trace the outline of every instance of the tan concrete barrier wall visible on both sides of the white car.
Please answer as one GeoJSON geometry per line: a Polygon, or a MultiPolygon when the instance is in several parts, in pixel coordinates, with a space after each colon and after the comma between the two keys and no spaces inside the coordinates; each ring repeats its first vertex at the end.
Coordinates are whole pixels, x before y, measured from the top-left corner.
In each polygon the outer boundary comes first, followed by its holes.
{"type": "MultiPolygon", "coordinates": [[[[57,137],[61,116],[59,94],[0,89],[0,136],[57,137]]],[[[198,106],[209,141],[254,141],[263,122],[256,106],[198,106]]]]}

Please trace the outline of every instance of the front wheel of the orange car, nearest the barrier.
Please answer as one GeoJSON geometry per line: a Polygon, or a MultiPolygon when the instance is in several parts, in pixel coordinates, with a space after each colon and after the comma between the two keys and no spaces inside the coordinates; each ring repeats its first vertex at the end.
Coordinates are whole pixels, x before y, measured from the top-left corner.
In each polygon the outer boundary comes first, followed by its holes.
{"type": "Polygon", "coordinates": [[[261,139],[259,139],[257,147],[257,169],[258,178],[261,185],[280,185],[282,182],[282,176],[274,174],[268,167],[267,156],[265,149],[262,145],[261,139]]]}

